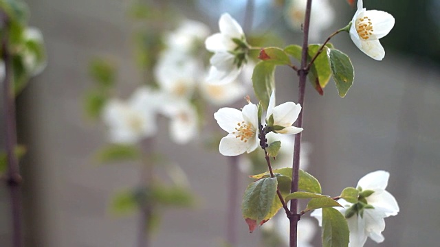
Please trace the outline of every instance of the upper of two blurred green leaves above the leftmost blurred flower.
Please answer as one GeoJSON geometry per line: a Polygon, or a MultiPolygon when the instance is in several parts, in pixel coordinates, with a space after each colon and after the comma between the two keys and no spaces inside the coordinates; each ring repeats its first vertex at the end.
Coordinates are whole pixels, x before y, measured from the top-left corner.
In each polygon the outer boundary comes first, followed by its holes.
{"type": "Polygon", "coordinates": [[[89,64],[89,74],[100,86],[113,86],[116,78],[115,64],[108,59],[94,58],[89,64]]]}

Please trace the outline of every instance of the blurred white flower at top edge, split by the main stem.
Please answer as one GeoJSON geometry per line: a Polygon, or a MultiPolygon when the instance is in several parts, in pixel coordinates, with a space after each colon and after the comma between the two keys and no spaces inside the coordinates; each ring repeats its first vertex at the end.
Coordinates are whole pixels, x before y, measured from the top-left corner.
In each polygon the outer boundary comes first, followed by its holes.
{"type": "MultiPolygon", "coordinates": [[[[290,0],[285,8],[285,19],[294,30],[300,31],[305,19],[307,0],[290,0]]],[[[311,2],[309,39],[318,41],[322,30],[326,30],[333,24],[335,11],[328,0],[311,2]]]]}

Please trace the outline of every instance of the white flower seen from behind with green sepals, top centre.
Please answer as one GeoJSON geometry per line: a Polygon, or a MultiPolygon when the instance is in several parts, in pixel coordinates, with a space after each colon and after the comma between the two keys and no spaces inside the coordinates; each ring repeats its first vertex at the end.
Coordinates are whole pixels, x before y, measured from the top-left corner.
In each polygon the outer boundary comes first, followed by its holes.
{"type": "Polygon", "coordinates": [[[219,20],[220,32],[206,38],[205,46],[214,52],[210,59],[208,82],[228,83],[237,78],[245,63],[246,49],[234,39],[245,44],[243,29],[230,14],[222,14],[219,20]]]}

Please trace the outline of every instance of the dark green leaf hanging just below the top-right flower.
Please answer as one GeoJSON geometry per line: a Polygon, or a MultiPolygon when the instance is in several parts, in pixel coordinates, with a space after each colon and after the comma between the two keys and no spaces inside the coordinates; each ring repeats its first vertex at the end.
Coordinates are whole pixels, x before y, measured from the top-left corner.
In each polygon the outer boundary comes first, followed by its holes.
{"type": "Polygon", "coordinates": [[[349,56],[338,49],[327,49],[327,56],[339,95],[345,97],[355,78],[353,64],[351,64],[349,56]]]}

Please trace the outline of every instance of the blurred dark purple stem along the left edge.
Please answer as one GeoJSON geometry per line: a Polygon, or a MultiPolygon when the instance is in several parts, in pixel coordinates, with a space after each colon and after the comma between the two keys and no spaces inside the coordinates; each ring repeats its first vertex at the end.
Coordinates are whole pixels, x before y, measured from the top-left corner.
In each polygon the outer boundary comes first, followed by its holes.
{"type": "Polygon", "coordinates": [[[5,63],[5,79],[3,81],[3,99],[5,107],[5,145],[8,156],[8,174],[6,178],[10,189],[12,210],[12,246],[23,246],[21,234],[21,175],[15,148],[17,147],[17,125],[15,119],[15,93],[12,81],[12,60],[9,54],[8,16],[1,12],[5,33],[1,41],[3,62],[5,63]]]}

